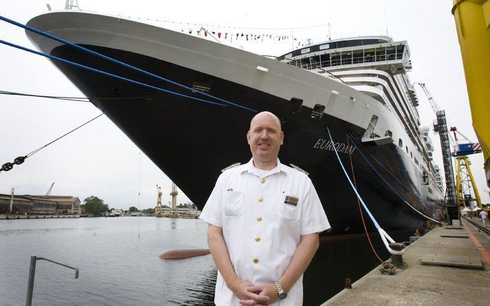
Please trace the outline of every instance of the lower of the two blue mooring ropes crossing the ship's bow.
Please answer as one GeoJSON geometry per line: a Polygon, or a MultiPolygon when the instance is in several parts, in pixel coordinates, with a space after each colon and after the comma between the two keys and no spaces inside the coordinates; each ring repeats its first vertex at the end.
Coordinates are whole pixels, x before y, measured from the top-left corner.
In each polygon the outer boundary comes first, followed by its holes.
{"type": "Polygon", "coordinates": [[[193,99],[193,100],[198,100],[200,102],[206,102],[206,103],[209,103],[209,104],[212,104],[212,105],[219,105],[221,107],[226,107],[226,105],[221,104],[221,103],[212,102],[212,101],[204,100],[204,99],[200,99],[200,98],[194,98],[194,97],[191,97],[191,96],[186,96],[184,94],[179,94],[179,93],[174,92],[174,91],[169,91],[167,89],[162,89],[162,88],[159,88],[159,87],[155,87],[153,85],[148,85],[148,84],[145,84],[145,83],[141,83],[141,82],[138,82],[137,80],[131,80],[130,78],[123,78],[122,76],[116,76],[116,74],[109,74],[109,72],[104,72],[102,70],[98,70],[98,69],[95,69],[95,68],[92,68],[92,67],[87,67],[87,66],[84,66],[84,65],[81,65],[81,64],[78,64],[78,63],[67,61],[64,58],[59,58],[57,56],[52,56],[50,54],[45,54],[43,52],[39,52],[39,51],[32,50],[32,49],[29,49],[29,48],[26,48],[26,47],[22,47],[21,45],[16,45],[14,43],[9,43],[8,41],[3,41],[1,39],[0,39],[0,43],[3,43],[3,45],[8,45],[10,47],[14,47],[14,48],[17,48],[17,49],[20,49],[20,50],[27,51],[27,52],[30,52],[30,53],[34,53],[34,54],[37,54],[37,55],[45,56],[47,58],[51,58],[52,60],[61,61],[62,63],[68,64],[68,65],[72,65],[72,66],[75,66],[75,67],[79,67],[79,68],[82,68],[82,69],[86,69],[86,70],[89,70],[91,72],[96,72],[98,74],[103,74],[105,76],[111,76],[112,78],[117,78],[118,80],[125,80],[125,81],[127,81],[129,83],[134,83],[136,85],[140,85],[140,86],[143,86],[143,87],[149,87],[151,89],[156,89],[158,91],[162,91],[162,92],[167,93],[167,94],[173,94],[175,96],[180,96],[182,98],[189,98],[189,99],[193,99]]]}

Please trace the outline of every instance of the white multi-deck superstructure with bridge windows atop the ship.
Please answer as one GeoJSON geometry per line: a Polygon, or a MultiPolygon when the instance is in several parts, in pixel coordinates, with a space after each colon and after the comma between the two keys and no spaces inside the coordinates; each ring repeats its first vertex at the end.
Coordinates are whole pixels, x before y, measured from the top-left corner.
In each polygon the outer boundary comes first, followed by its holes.
{"type": "Polygon", "coordinates": [[[407,41],[387,36],[361,36],[308,45],[278,58],[315,74],[337,80],[374,98],[394,116],[386,126],[373,116],[363,142],[394,142],[418,168],[427,197],[443,190],[438,168],[432,162],[434,146],[428,129],[420,130],[418,97],[407,72],[412,69],[407,41]],[[439,177],[439,179],[438,179],[439,177]]]}

